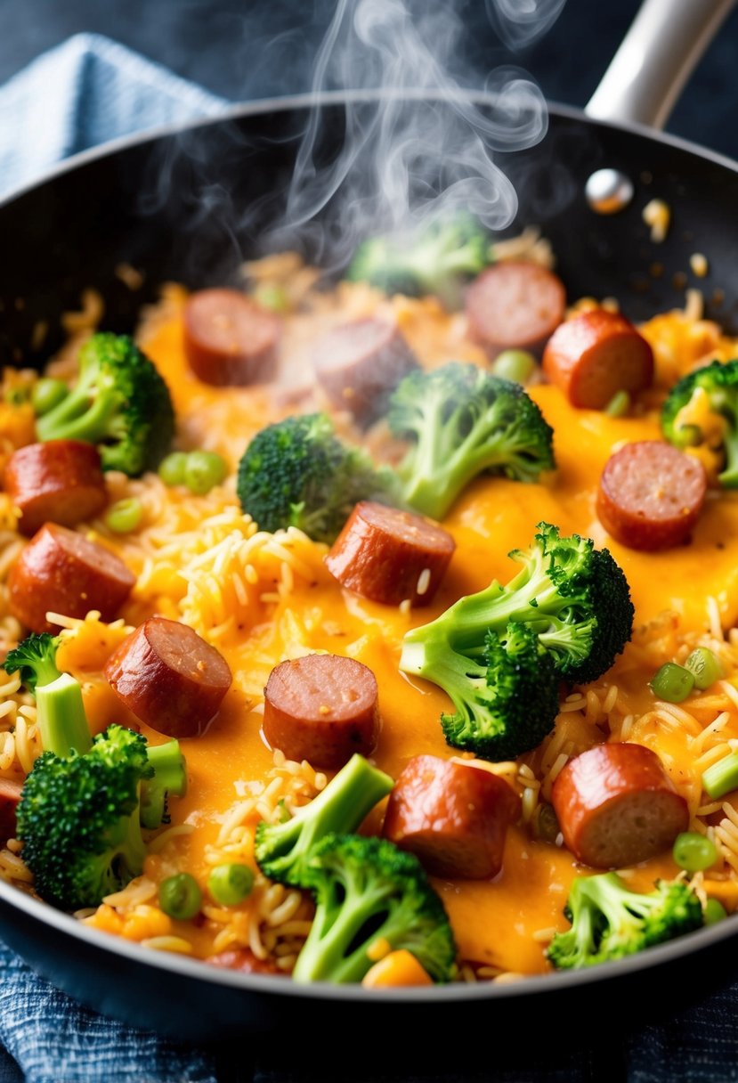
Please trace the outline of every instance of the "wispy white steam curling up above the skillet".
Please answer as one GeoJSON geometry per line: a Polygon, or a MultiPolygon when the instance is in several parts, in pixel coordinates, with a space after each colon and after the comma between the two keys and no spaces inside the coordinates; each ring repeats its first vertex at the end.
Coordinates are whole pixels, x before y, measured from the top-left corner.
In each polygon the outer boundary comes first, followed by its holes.
{"type": "MultiPolygon", "coordinates": [[[[493,0],[497,22],[517,40],[553,22],[563,2],[493,0]]],[[[545,103],[515,67],[492,71],[484,94],[462,89],[450,74],[462,29],[444,0],[412,13],[405,0],[339,0],[313,91],[375,90],[348,95],[342,149],[329,160],[325,108],[312,110],[273,242],[306,240],[325,266],[345,262],[367,234],[456,210],[493,231],[511,223],[517,199],[495,155],[542,139],[545,103]]]]}

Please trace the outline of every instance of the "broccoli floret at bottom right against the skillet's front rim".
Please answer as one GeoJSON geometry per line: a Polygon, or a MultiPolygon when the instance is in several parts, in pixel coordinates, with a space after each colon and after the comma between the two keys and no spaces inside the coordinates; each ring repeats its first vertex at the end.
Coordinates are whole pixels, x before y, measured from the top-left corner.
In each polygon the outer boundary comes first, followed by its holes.
{"type": "Polygon", "coordinates": [[[557,932],[546,951],[561,970],[632,955],[704,921],[699,899],[683,880],[659,880],[654,891],[638,895],[616,873],[578,876],[564,913],[571,928],[557,932]]]}

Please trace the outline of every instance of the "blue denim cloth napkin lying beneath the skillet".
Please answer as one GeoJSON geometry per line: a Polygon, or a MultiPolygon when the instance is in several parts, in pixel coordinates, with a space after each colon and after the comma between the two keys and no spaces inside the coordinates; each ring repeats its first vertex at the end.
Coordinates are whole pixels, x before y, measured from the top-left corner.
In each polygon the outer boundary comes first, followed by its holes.
{"type": "MultiPolygon", "coordinates": [[[[0,87],[0,197],[88,147],[227,104],[114,41],[76,35],[0,87]]],[[[216,1054],[103,1018],[0,943],[0,1083],[738,1083],[738,987],[662,1026],[637,1029],[623,1007],[601,1035],[588,1041],[572,1020],[543,1048],[498,1034],[490,1009],[487,1041],[461,1040],[475,1061],[451,1072],[429,1035],[409,1035],[418,1058],[401,1074],[388,1053],[381,1069],[364,1056],[354,1069],[340,1056],[313,1068],[289,1040],[216,1054]]]]}

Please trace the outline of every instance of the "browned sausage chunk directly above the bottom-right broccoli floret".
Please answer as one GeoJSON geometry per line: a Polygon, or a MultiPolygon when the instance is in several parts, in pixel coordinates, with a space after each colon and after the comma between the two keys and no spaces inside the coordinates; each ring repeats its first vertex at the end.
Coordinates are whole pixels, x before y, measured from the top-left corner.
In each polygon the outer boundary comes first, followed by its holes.
{"type": "Polygon", "coordinates": [[[553,784],[564,841],[594,869],[646,861],[687,830],[687,803],[643,745],[604,744],[569,760],[553,784]]]}

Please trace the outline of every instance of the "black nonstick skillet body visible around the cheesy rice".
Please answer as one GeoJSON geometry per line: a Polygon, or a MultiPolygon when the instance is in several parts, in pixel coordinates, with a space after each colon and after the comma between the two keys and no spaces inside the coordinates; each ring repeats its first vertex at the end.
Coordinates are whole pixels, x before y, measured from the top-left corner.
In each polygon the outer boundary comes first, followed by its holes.
{"type": "MultiPolygon", "coordinates": [[[[370,113],[381,96],[322,95],[330,133],[321,147],[327,160],[341,145],[346,101],[370,113]]],[[[483,112],[490,106],[484,95],[470,100],[483,112]]],[[[176,278],[201,287],[225,280],[237,258],[255,252],[260,234],[278,221],[314,105],[308,97],[260,102],[216,121],[127,140],[79,156],[0,205],[0,363],[41,364],[63,340],[62,312],[78,306],[87,286],[105,298],[106,328],[130,331],[161,282],[176,278]],[[166,192],[159,186],[164,194],[146,198],[154,179],[164,172],[166,192]],[[241,219],[216,204],[203,216],[200,197],[206,187],[213,191],[215,180],[219,191],[229,193],[229,208],[258,206],[258,214],[241,219]],[[141,290],[132,292],[116,275],[120,263],[145,272],[141,290]],[[39,323],[47,326],[42,345],[39,323]]],[[[406,107],[417,107],[412,95],[406,107]]],[[[436,107],[448,105],[439,97],[436,107]]],[[[605,112],[602,100],[592,108],[605,112]]],[[[631,110],[624,122],[614,125],[552,105],[545,139],[498,160],[519,195],[511,232],[530,222],[540,225],[569,297],[616,295],[634,321],[682,304],[689,256],[704,252],[709,274],[691,284],[704,291],[708,315],[738,334],[738,167],[655,135],[633,119],[631,110]],[[635,188],[616,216],[593,213],[583,195],[588,178],[604,167],[622,171],[635,188]],[[642,219],[643,206],[655,196],[673,211],[669,235],[658,246],[642,219]]],[[[646,119],[663,116],[657,110],[646,119]]],[[[531,1013],[540,1033],[545,1027],[559,1029],[567,1019],[594,1021],[623,1000],[643,1019],[656,1001],[668,1010],[678,996],[684,1007],[686,990],[703,995],[735,978],[736,934],[738,921],[729,919],[602,968],[510,984],[369,994],[353,987],[305,989],[144,951],[0,883],[0,936],[43,976],[97,1010],[189,1041],[285,1028],[296,1036],[303,1029],[325,1027],[327,1015],[331,1029],[348,1028],[358,1012],[363,1028],[381,1027],[387,1036],[446,1026],[451,1017],[476,1030],[493,1016],[499,1027],[519,1018],[522,1008],[531,1013]]]]}

